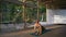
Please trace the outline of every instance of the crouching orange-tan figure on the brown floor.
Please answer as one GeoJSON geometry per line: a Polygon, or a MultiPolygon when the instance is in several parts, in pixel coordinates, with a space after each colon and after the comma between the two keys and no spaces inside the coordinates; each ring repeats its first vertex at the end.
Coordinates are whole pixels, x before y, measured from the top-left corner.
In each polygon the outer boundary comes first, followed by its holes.
{"type": "Polygon", "coordinates": [[[43,30],[44,30],[44,27],[40,24],[40,21],[36,20],[35,24],[34,24],[34,33],[36,35],[41,35],[43,30]]]}

